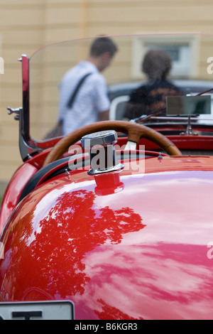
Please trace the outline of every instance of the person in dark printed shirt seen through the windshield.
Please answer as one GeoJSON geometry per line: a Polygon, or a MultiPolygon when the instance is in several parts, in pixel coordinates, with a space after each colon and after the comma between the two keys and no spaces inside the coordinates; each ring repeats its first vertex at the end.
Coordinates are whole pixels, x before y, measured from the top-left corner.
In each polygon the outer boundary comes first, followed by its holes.
{"type": "Polygon", "coordinates": [[[141,115],[160,112],[166,114],[166,97],[181,95],[178,87],[167,80],[171,69],[171,60],[163,50],[149,50],[143,58],[142,71],[147,75],[148,82],[131,92],[126,105],[124,119],[135,119],[141,115]]]}

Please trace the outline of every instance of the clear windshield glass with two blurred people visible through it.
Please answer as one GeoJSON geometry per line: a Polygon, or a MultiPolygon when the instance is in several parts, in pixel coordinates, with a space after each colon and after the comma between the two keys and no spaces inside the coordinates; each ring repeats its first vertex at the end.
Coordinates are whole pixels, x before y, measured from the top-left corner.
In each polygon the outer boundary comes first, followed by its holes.
{"type": "Polygon", "coordinates": [[[40,48],[30,58],[31,137],[60,136],[58,122],[67,134],[106,117],[211,119],[212,50],[213,36],[199,34],[101,36],[40,48]]]}

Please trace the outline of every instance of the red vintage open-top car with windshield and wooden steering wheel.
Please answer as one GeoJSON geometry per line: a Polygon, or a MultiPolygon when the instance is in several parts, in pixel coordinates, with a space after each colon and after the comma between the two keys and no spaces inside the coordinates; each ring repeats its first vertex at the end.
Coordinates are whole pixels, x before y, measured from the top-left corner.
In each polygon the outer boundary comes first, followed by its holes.
{"type": "MultiPolygon", "coordinates": [[[[58,83],[90,40],[22,55],[23,106],[10,113],[23,164],[1,202],[1,319],[213,318],[212,37],[114,37],[114,82],[129,81],[142,45],[141,57],[153,47],[170,54],[169,80],[204,89],[55,138],[45,134],[58,83]]],[[[124,95],[123,111],[135,106],[124,95]]]]}

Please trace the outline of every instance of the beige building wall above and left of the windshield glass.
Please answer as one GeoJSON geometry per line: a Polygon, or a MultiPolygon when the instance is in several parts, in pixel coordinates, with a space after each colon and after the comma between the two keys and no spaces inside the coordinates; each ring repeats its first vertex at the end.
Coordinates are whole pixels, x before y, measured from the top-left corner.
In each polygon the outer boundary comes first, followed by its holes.
{"type": "Polygon", "coordinates": [[[99,34],[213,33],[212,12],[212,0],[0,0],[0,195],[22,162],[18,122],[6,111],[22,104],[22,53],[99,34]]]}

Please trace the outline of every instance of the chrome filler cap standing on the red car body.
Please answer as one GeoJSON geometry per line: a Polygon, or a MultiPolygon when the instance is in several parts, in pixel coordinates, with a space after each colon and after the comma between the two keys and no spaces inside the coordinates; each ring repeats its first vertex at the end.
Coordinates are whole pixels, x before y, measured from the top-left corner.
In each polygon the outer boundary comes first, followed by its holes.
{"type": "Polygon", "coordinates": [[[124,166],[118,162],[114,144],[118,139],[114,130],[99,131],[82,137],[82,146],[89,150],[91,169],[88,174],[96,175],[119,171],[124,166]]]}

